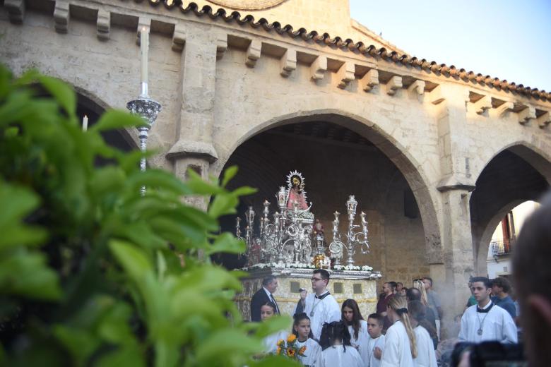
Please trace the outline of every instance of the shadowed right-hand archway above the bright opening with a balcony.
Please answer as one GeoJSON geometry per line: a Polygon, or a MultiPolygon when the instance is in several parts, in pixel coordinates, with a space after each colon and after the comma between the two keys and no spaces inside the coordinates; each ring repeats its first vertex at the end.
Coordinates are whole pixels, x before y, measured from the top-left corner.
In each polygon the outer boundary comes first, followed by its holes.
{"type": "Polygon", "coordinates": [[[504,148],[487,162],[470,196],[475,271],[486,275],[488,245],[504,215],[549,188],[551,161],[524,143],[504,148]]]}

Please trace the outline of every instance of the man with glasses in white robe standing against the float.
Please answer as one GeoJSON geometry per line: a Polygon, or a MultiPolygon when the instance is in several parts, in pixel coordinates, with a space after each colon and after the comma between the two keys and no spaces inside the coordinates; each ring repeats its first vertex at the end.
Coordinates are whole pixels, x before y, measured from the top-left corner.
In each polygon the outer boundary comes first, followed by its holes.
{"type": "MultiPolygon", "coordinates": [[[[340,308],[335,298],[329,293],[329,272],[325,269],[316,269],[312,274],[313,294],[306,296],[304,313],[310,318],[314,339],[319,340],[321,327],[324,323],[340,320],[340,308]]],[[[296,313],[296,308],[295,312],[296,313]]]]}

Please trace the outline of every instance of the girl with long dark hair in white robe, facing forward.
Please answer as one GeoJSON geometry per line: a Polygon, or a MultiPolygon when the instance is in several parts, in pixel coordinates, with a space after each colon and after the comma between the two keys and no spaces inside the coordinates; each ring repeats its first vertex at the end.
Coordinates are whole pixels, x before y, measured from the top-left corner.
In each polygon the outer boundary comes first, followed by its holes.
{"type": "Polygon", "coordinates": [[[364,362],[363,366],[369,366],[369,351],[367,349],[369,335],[367,333],[367,322],[362,317],[360,307],[357,306],[356,301],[353,299],[347,299],[343,302],[340,310],[342,320],[350,333],[350,344],[360,353],[364,362]]]}

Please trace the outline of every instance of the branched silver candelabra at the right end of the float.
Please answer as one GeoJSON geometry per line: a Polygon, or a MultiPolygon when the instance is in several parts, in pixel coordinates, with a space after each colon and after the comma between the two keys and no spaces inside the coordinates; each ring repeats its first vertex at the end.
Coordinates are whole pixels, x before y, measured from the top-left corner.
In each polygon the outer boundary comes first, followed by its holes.
{"type": "Polygon", "coordinates": [[[360,248],[362,253],[369,252],[369,241],[367,239],[367,220],[365,219],[365,212],[360,213],[361,226],[354,224],[356,217],[357,201],[354,195],[350,195],[346,202],[346,210],[348,212],[348,232],[346,233],[346,243],[341,240],[340,233],[338,231],[339,212],[334,212],[335,220],[333,220],[333,241],[329,244],[329,251],[331,257],[335,258],[335,264],[340,265],[340,258],[343,257],[343,250],[346,250],[348,255],[347,265],[354,265],[354,254],[356,248],[360,248]],[[357,228],[362,227],[360,231],[356,231],[357,228]]]}

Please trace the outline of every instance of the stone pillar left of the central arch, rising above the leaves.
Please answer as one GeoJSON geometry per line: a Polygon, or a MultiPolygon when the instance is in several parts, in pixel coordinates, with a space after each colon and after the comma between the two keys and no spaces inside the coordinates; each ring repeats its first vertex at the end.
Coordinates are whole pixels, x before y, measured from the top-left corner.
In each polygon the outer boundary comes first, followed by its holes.
{"type": "MultiPolygon", "coordinates": [[[[174,30],[172,48],[182,49],[181,108],[179,116],[176,116],[176,142],[167,153],[167,158],[174,162],[174,173],[180,179],[186,179],[188,169],[206,178],[209,165],[218,160],[212,141],[216,42],[210,27],[206,25],[194,23],[186,27],[178,24],[174,30]]],[[[189,203],[203,209],[208,205],[202,199],[189,203]]]]}

